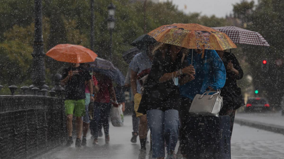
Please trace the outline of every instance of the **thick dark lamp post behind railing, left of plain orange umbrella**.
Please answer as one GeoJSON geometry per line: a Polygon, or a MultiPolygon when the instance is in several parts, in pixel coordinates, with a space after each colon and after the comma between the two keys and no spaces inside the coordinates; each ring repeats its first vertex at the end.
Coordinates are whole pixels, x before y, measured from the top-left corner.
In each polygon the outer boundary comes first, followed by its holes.
{"type": "Polygon", "coordinates": [[[42,4],[41,0],[35,0],[35,33],[32,52],[32,81],[34,87],[42,88],[45,84],[45,66],[42,38],[42,4]]]}

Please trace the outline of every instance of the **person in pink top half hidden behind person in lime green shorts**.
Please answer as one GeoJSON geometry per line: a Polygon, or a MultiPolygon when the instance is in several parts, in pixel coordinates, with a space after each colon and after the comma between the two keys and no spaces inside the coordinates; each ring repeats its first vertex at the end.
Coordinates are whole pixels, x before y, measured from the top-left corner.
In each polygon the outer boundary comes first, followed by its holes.
{"type": "MultiPolygon", "coordinates": [[[[84,63],[84,66],[89,70],[89,64],[84,63]]],[[[87,145],[87,132],[89,130],[90,126],[90,116],[89,116],[89,104],[91,102],[90,98],[93,96],[95,98],[95,94],[98,93],[99,87],[98,87],[98,81],[95,76],[93,76],[93,71],[89,71],[89,74],[92,76],[92,85],[93,85],[93,94],[90,94],[89,91],[89,85],[86,85],[85,88],[85,116],[83,116],[83,137],[82,137],[82,145],[86,146],[87,145]]]]}

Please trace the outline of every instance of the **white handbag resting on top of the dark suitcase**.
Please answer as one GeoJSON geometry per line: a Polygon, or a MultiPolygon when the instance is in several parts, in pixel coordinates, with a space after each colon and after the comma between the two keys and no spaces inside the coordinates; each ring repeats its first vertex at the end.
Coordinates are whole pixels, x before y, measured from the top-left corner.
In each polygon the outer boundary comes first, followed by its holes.
{"type": "Polygon", "coordinates": [[[206,91],[203,94],[196,94],[191,103],[189,113],[198,115],[218,116],[223,106],[223,97],[218,91],[206,91]],[[209,95],[209,93],[214,93],[209,95]]]}

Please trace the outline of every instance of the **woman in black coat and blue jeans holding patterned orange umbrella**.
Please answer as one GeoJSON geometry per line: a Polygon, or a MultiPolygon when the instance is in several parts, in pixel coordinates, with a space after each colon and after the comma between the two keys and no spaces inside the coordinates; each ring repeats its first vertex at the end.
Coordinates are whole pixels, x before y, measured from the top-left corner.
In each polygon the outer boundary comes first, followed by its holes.
{"type": "MultiPolygon", "coordinates": [[[[187,76],[183,76],[183,78],[191,76],[192,80],[195,73],[192,65],[182,69],[185,55],[181,53],[181,48],[162,43],[153,50],[155,51],[153,65],[138,108],[139,113],[147,113],[152,136],[153,158],[162,159],[165,157],[165,141],[167,159],[174,158],[173,153],[178,141],[178,111],[180,107],[178,77],[186,74],[187,76]]],[[[183,78],[180,81],[183,81],[183,78]]],[[[189,78],[187,78],[188,80],[189,78]]]]}

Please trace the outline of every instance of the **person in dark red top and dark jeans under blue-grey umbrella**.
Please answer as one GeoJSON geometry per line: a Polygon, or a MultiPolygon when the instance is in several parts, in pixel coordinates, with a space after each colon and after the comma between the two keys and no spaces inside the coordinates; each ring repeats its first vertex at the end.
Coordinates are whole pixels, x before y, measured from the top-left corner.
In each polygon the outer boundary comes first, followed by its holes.
{"type": "Polygon", "coordinates": [[[103,125],[105,132],[105,143],[108,144],[110,140],[108,117],[110,114],[111,102],[116,102],[116,96],[112,81],[107,76],[97,73],[96,78],[100,89],[97,93],[93,108],[93,126],[91,126],[94,137],[93,144],[98,144],[101,125],[103,125]]]}

